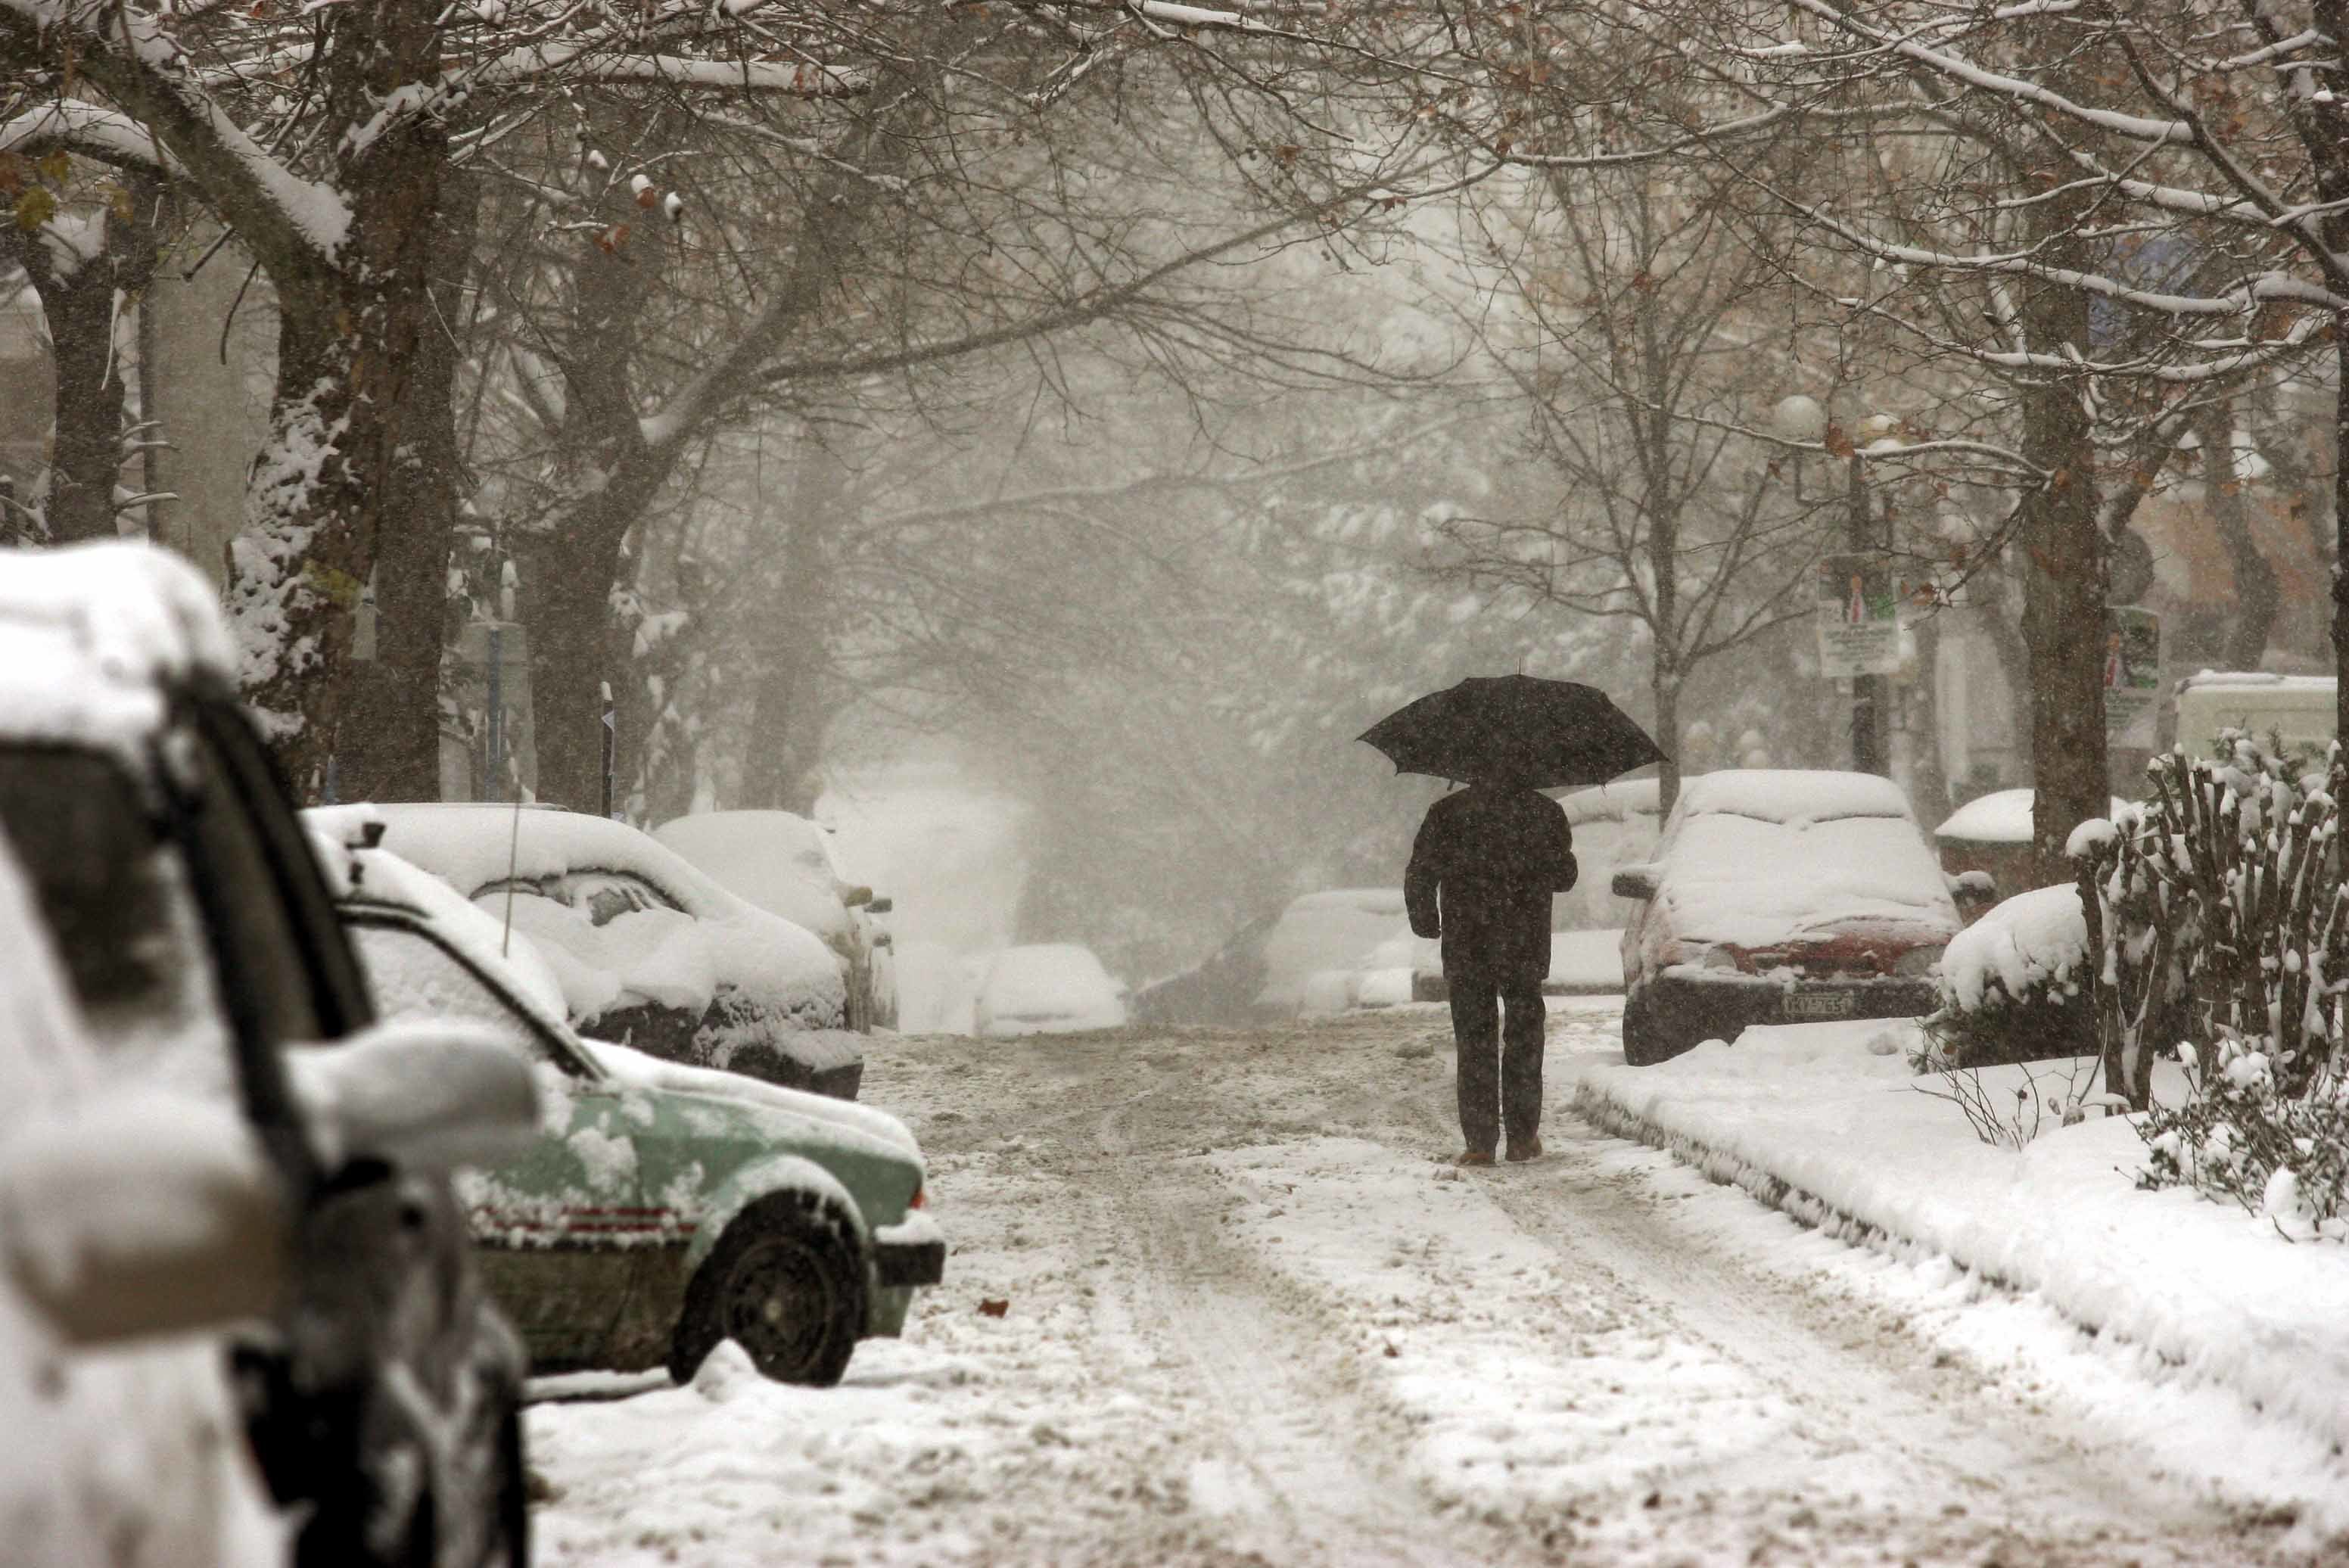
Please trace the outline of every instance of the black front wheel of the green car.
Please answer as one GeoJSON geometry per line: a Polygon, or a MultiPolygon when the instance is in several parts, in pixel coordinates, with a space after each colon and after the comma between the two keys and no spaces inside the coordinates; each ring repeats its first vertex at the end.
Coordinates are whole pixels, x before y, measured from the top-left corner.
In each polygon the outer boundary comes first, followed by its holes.
{"type": "Polygon", "coordinates": [[[669,1376],[691,1380],[719,1340],[735,1340],[775,1383],[832,1387],[864,1333],[864,1277],[855,1221],[836,1202],[761,1197],[693,1272],[669,1376]]]}

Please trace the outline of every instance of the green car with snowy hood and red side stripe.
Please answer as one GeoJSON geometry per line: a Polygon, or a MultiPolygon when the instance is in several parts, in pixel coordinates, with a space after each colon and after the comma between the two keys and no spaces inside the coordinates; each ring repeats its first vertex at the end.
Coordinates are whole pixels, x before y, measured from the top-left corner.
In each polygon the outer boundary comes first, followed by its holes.
{"type": "Polygon", "coordinates": [[[498,1305],[536,1371],[667,1366],[719,1340],[768,1378],[839,1383],[860,1338],[904,1329],[947,1244],[921,1145],[853,1101],[580,1040],[519,932],[371,847],[366,807],[310,812],[336,906],[388,1019],[482,1019],[538,1070],[526,1155],[458,1176],[498,1305]]]}

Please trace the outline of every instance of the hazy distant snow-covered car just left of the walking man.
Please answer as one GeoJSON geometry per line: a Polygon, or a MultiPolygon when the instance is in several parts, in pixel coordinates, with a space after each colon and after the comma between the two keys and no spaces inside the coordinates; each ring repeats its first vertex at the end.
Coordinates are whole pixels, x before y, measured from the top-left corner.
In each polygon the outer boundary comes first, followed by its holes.
{"type": "MultiPolygon", "coordinates": [[[[1365,976],[1423,967],[1433,948],[1412,946],[1400,887],[1332,887],[1252,920],[1196,967],[1144,986],[1135,1012],[1153,1023],[1257,1023],[1346,1012],[1362,1002],[1365,976]]],[[[1374,1000],[1391,981],[1372,986],[1374,1000]]]]}

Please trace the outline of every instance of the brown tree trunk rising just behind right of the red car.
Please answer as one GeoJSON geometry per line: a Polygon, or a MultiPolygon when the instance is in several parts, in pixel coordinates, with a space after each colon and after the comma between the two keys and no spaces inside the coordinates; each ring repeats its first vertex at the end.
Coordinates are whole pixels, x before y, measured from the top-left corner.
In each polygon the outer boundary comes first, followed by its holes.
{"type": "MultiPolygon", "coordinates": [[[[2074,202],[2034,209],[2053,265],[2079,265],[2074,202]]],[[[2022,307],[2037,352],[2088,357],[2088,296],[2037,286],[2022,307]]],[[[2048,472],[2022,500],[2022,641],[2032,657],[2032,852],[2039,887],[2072,880],[2072,829],[2112,810],[2105,758],[2105,538],[2095,453],[2079,387],[2046,376],[2022,390],[2022,453],[2048,472]]]]}

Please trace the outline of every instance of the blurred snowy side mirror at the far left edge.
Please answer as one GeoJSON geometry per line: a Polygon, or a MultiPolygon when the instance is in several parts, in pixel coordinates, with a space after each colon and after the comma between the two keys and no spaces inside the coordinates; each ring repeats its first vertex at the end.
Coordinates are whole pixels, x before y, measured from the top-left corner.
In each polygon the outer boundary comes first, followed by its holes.
{"type": "Polygon", "coordinates": [[[0,1141],[0,1265],[68,1345],[272,1312],[291,1211],[226,1101],[132,1089],[0,1141]]]}

